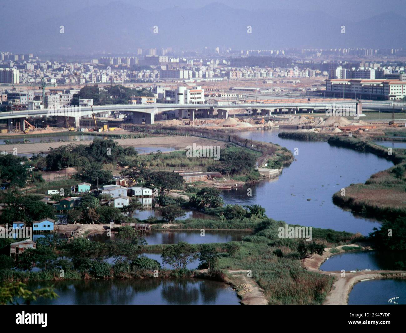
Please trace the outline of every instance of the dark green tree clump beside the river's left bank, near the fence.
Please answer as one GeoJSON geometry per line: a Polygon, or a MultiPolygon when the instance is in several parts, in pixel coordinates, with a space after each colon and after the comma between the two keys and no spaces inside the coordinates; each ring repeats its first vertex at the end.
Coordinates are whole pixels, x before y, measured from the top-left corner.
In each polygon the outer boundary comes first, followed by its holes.
{"type": "Polygon", "coordinates": [[[218,171],[227,176],[236,174],[250,174],[255,167],[255,155],[246,150],[220,150],[220,163],[210,165],[207,171],[218,171]]]}

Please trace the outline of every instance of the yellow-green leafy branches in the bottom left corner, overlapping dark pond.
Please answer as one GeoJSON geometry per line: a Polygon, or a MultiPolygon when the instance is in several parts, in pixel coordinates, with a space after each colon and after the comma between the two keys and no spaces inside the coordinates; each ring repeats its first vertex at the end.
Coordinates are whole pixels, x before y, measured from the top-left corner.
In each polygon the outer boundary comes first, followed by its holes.
{"type": "Polygon", "coordinates": [[[13,304],[19,305],[18,300],[22,298],[24,304],[29,305],[31,302],[35,302],[38,298],[57,298],[59,297],[54,292],[53,287],[36,289],[30,291],[27,289],[27,285],[22,282],[7,282],[4,281],[0,286],[0,304],[13,304]]]}

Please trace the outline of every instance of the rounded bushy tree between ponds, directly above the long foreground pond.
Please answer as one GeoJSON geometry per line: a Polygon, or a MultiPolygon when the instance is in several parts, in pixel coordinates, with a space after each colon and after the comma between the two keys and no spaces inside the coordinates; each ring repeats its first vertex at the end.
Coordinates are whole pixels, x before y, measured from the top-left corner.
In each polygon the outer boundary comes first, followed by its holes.
{"type": "Polygon", "coordinates": [[[194,246],[186,242],[166,246],[161,255],[162,262],[171,265],[174,269],[186,268],[189,263],[192,263],[198,257],[199,255],[194,246]]]}

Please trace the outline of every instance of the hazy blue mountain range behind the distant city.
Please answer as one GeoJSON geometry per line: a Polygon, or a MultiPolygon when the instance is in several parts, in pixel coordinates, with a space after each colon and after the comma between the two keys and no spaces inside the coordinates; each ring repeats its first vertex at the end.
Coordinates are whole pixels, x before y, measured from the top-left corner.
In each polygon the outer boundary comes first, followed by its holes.
{"type": "MultiPolygon", "coordinates": [[[[48,54],[134,52],[137,47],[184,50],[406,47],[406,17],[395,11],[352,22],[303,9],[234,9],[212,3],[147,11],[123,2],[77,8],[41,20],[41,11],[0,21],[1,50],[48,54]],[[65,33],[60,33],[64,26],[65,33]],[[158,26],[158,33],[153,27],[158,26]],[[252,33],[247,33],[247,26],[252,33]],[[346,33],[341,33],[346,26],[346,33]]],[[[4,14],[6,15],[6,14],[4,14]]],[[[344,16],[344,15],[343,15],[344,16]]]]}

